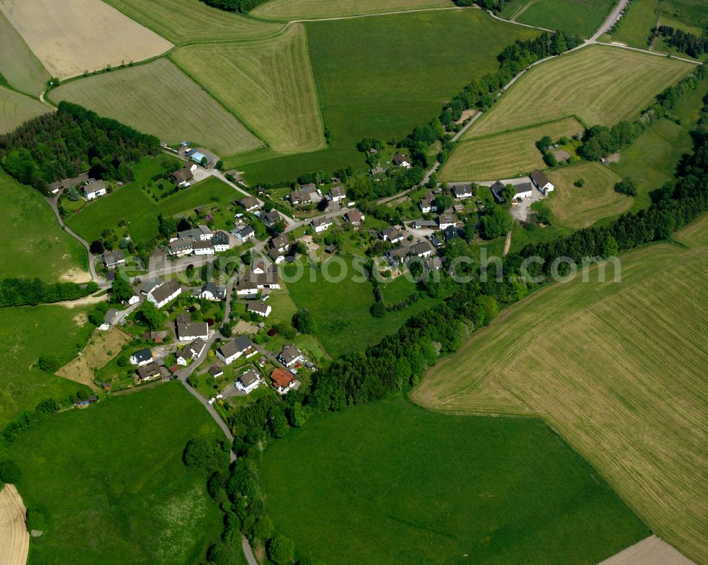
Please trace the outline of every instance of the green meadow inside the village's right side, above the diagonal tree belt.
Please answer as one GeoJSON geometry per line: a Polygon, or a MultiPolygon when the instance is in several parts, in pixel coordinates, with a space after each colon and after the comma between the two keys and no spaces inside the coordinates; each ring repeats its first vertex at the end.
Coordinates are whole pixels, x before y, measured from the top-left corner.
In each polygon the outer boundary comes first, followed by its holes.
{"type": "MultiPolygon", "coordinates": [[[[335,262],[329,260],[329,274],[332,279],[338,279],[341,267],[336,263],[340,260],[346,264],[347,272],[347,276],[340,282],[326,281],[320,270],[311,272],[308,269],[304,269],[303,276],[297,281],[286,279],[290,296],[297,308],[306,308],[314,315],[317,323],[315,337],[332,357],[361,351],[377,344],[384,336],[398,331],[413,314],[435,303],[432,298],[423,298],[409,308],[389,312],[383,318],[374,318],[369,311],[374,303],[371,283],[365,277],[362,282],[352,280],[353,277],[357,280],[362,277],[353,269],[350,259],[338,257],[335,262]],[[314,281],[311,281],[311,275],[314,281]]],[[[294,279],[297,264],[285,264],[282,272],[285,277],[294,279]]],[[[399,286],[402,284],[397,283],[399,286]]],[[[406,284],[409,286],[408,293],[400,289],[396,289],[396,293],[408,296],[415,289],[412,283],[406,281],[406,284]]],[[[386,296],[387,284],[382,286],[386,296]]],[[[275,306],[273,308],[275,310],[275,306]]]]}

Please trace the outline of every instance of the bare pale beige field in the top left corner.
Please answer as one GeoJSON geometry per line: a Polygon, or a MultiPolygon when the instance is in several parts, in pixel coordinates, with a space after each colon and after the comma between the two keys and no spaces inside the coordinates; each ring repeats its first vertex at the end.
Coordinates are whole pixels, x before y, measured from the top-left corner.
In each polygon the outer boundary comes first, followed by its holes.
{"type": "Polygon", "coordinates": [[[0,0],[0,10],[60,79],[149,59],[172,47],[101,0],[0,0]]]}

